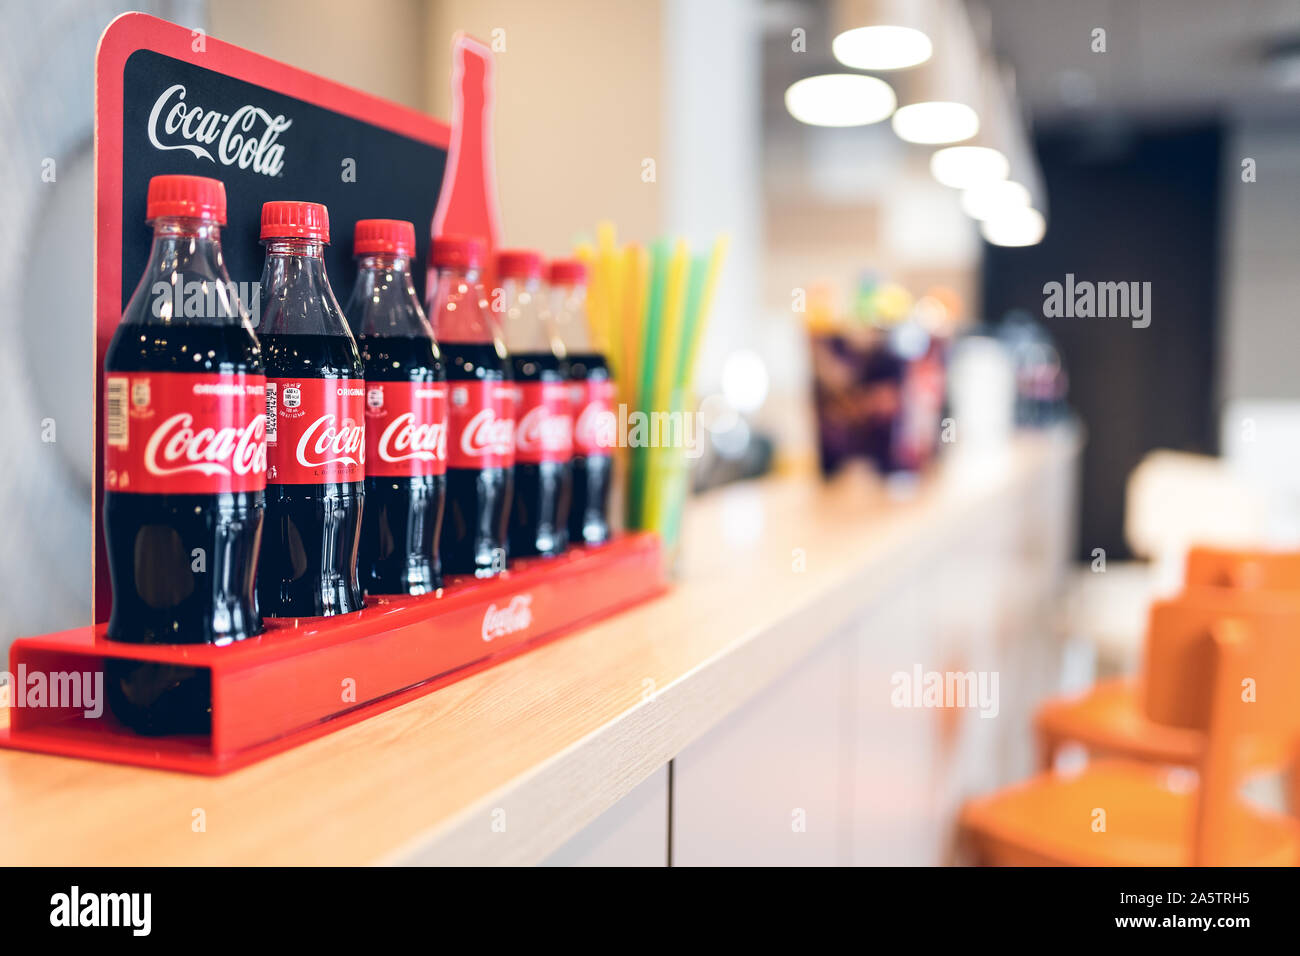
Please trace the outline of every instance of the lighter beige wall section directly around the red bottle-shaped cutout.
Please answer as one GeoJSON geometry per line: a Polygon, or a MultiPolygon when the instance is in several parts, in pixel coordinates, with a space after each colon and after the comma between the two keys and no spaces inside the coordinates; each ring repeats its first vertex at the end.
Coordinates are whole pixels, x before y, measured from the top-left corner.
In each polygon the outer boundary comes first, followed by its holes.
{"type": "MultiPolygon", "coordinates": [[[[441,0],[426,26],[428,90],[450,113],[451,34],[504,38],[497,53],[497,179],[504,242],[547,254],[594,235],[651,238],[660,156],[660,5],[655,0],[441,0]]],[[[659,178],[667,174],[662,168],[659,178]]]]}

